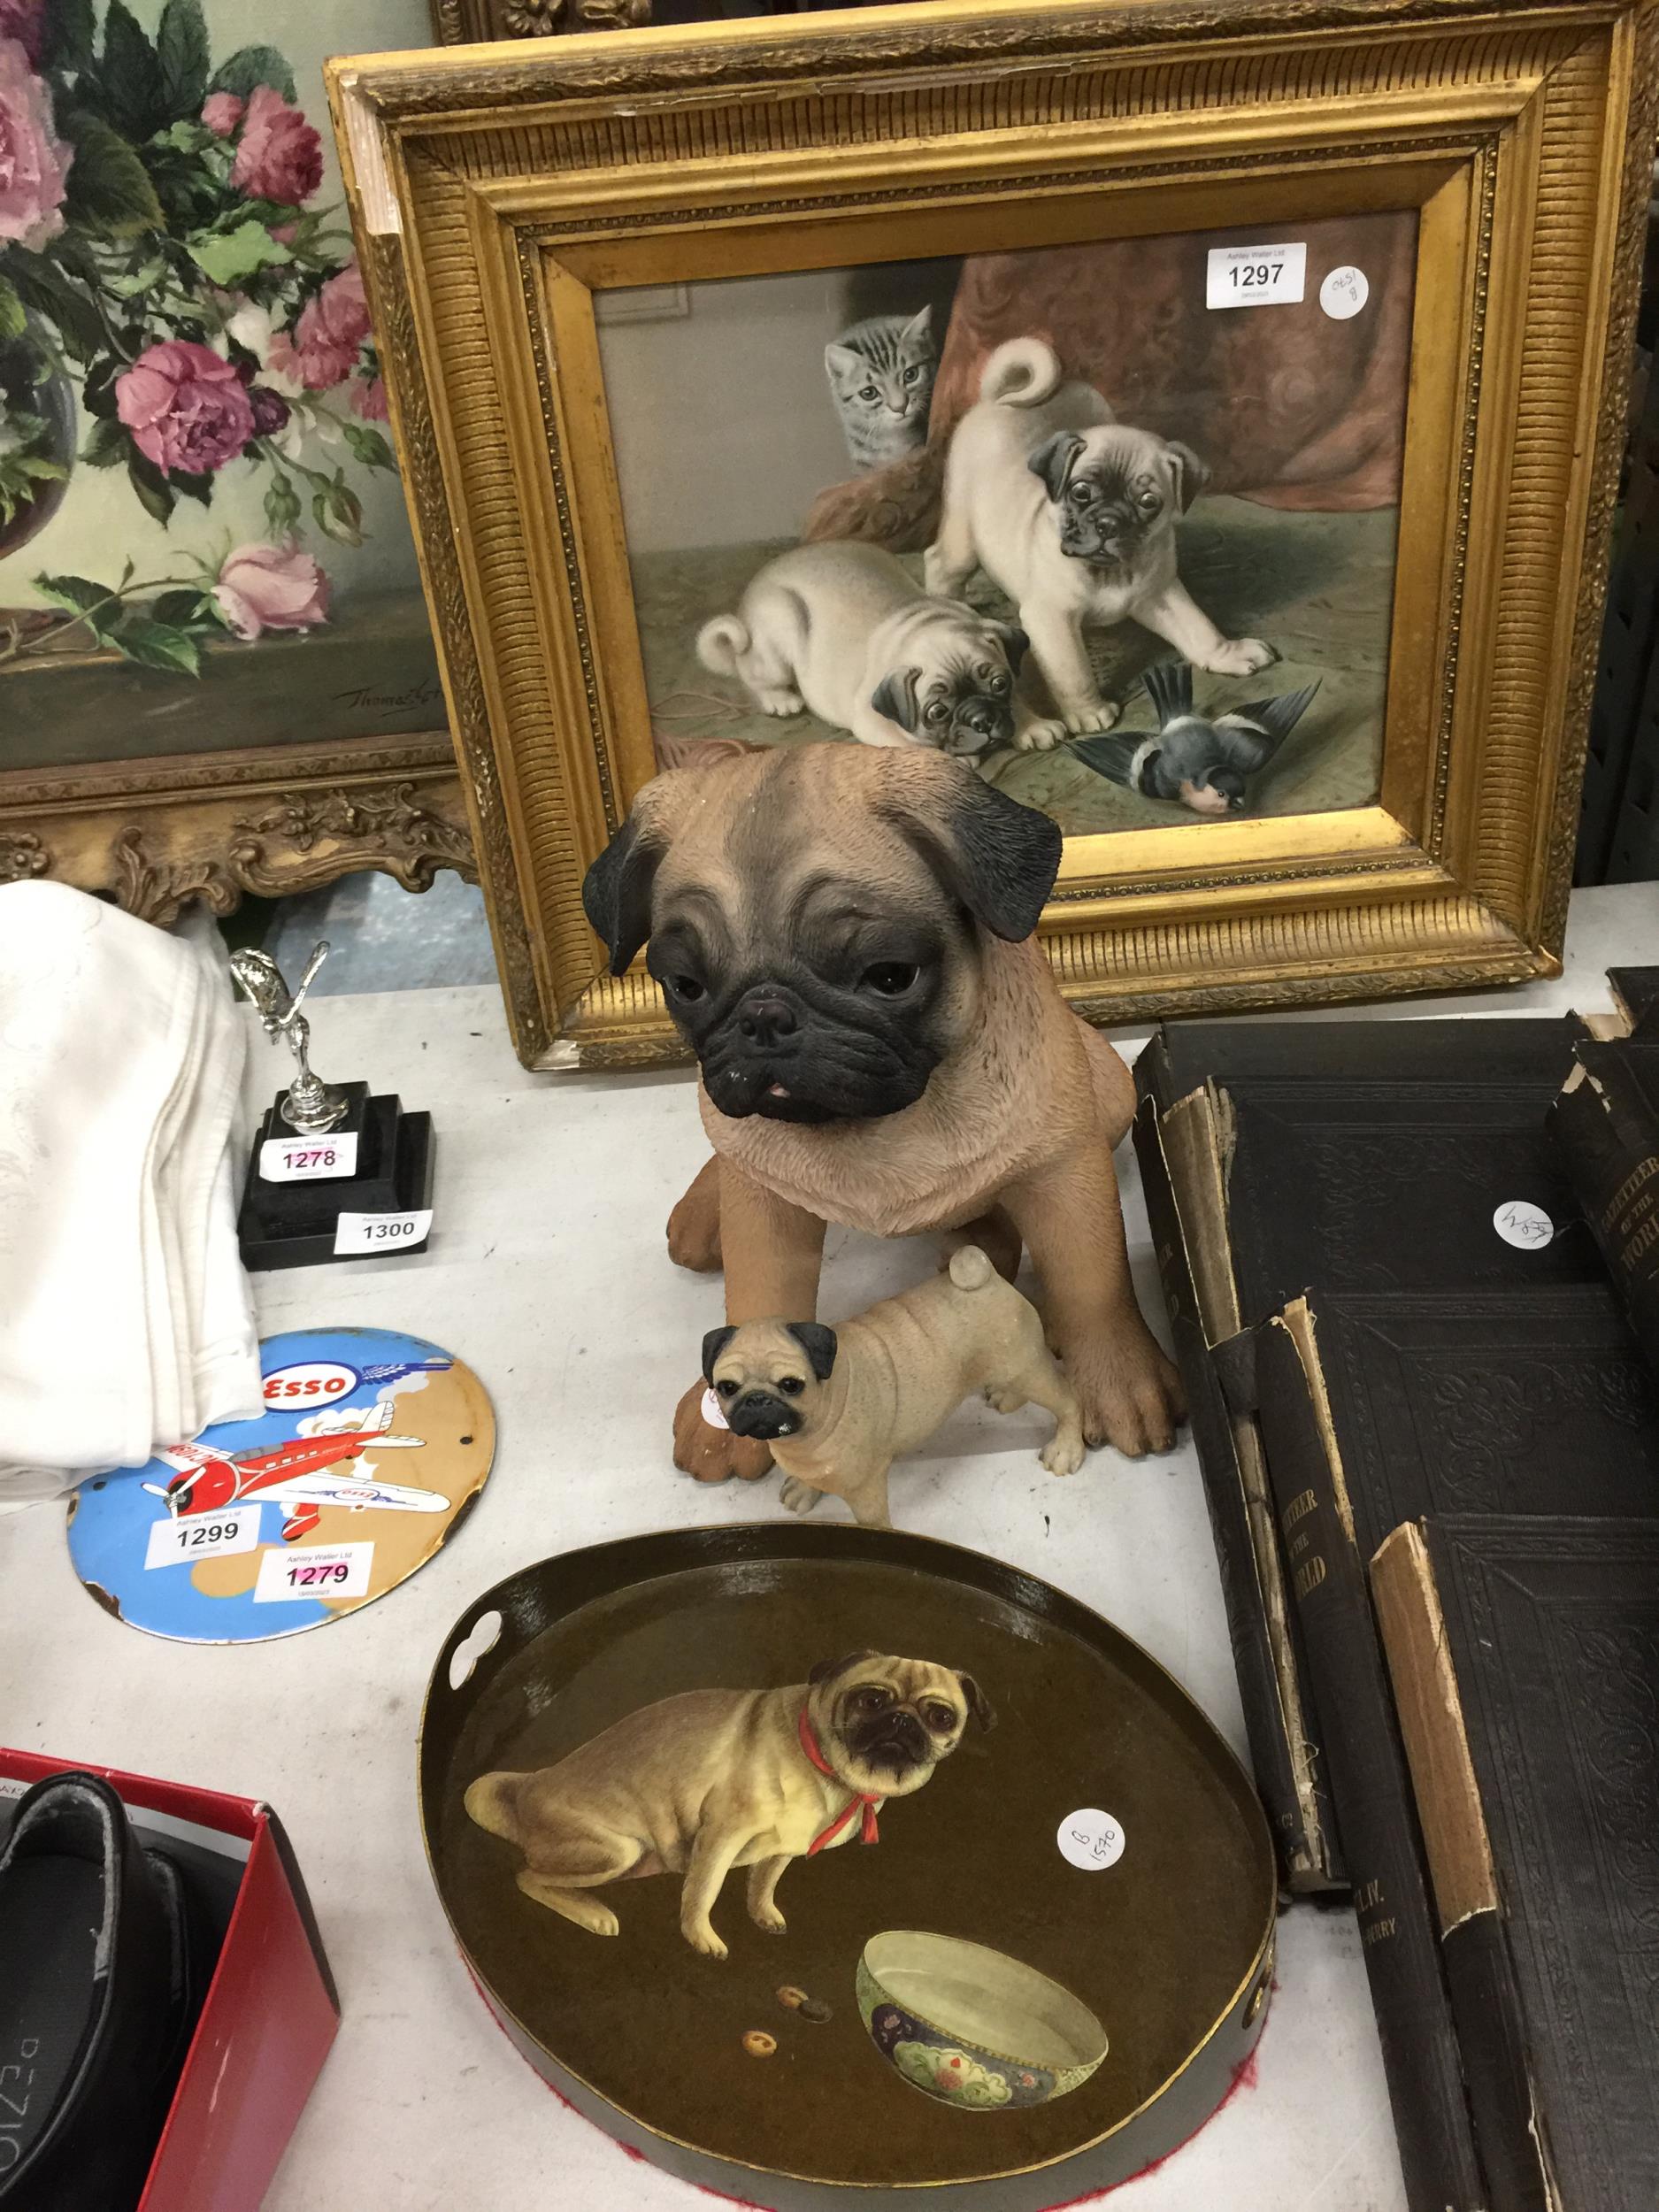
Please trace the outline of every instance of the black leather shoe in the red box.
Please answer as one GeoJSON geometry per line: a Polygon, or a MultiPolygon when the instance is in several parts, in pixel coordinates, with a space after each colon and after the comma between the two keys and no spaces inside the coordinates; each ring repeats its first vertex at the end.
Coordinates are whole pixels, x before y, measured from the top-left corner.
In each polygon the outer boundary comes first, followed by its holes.
{"type": "Polygon", "coordinates": [[[0,1851],[0,2208],[133,2212],[208,1947],[95,1774],[53,1774],[0,1851]]]}

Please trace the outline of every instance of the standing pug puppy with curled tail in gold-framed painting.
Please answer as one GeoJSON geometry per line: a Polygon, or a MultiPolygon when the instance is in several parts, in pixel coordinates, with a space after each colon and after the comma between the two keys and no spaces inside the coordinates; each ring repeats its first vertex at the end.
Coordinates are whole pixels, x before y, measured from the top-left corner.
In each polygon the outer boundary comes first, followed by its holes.
{"type": "Polygon", "coordinates": [[[1062,378],[1042,338],[1009,338],[951,434],[927,588],[956,599],[984,568],[1073,734],[1110,730],[1119,712],[1099,695],[1091,626],[1135,619],[1194,668],[1254,675],[1272,646],[1223,637],[1177,571],[1177,522],[1208,478],[1190,447],[1119,422],[1093,385],[1062,378]]]}

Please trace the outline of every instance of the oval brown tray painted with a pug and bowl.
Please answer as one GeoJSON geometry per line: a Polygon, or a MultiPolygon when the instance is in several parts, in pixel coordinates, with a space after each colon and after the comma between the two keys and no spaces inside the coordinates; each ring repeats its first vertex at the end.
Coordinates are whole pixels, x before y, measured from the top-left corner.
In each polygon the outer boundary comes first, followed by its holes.
{"type": "Polygon", "coordinates": [[[1086,1606],[927,1537],[695,1528],[511,1575],[438,1657],[420,1816],[462,1955],[531,2064],[655,2163],[779,2212],[1037,2212],[1124,2181],[1210,2117],[1265,2017],[1274,1860],[1228,1745],[1086,1606]],[[451,1688],[489,1615],[498,1639],[451,1688]],[[467,1816],[478,1776],[553,1765],[657,1699],[803,1683],[858,1650],[973,1674],[998,1725],[891,1798],[874,1847],[796,1858],[787,1933],[754,1927],[732,1871],[712,1907],[726,1960],[679,1933],[677,1874],[591,1891],[622,1922],[595,1936],[524,1896],[520,1851],[467,1816]],[[1079,1809],[1121,1827],[1113,1865],[1062,1856],[1079,1809]],[[1062,1982],[1106,2026],[1104,2064],[1048,2104],[922,2095],[854,2000],[885,1929],[967,1938],[1062,1982]]]}

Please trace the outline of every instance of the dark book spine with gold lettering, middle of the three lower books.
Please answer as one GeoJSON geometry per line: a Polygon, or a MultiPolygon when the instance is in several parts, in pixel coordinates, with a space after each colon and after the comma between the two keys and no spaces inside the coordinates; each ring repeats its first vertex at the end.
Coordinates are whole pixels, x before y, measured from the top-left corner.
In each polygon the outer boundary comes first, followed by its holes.
{"type": "Polygon", "coordinates": [[[1411,2212],[1489,2205],[1411,1781],[1305,1301],[1259,1332],[1256,1396],[1411,2212]]]}

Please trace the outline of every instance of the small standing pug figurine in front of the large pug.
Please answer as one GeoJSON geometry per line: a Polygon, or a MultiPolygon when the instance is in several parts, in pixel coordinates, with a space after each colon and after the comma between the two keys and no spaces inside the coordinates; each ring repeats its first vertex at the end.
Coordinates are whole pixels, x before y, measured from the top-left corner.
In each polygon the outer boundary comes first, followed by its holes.
{"type": "Polygon", "coordinates": [[[887,1528],[887,1469],[916,1451],[975,1389],[998,1413],[1035,1402],[1055,1416],[1042,1464],[1084,1464],[1077,1391],[1055,1365],[1035,1305],[978,1245],[949,1272],[883,1298],[841,1329],[748,1321],[710,1329],[703,1374],[737,1436],[759,1436],[783,1469],[783,1504],[810,1513],[823,1491],[887,1528]]]}

